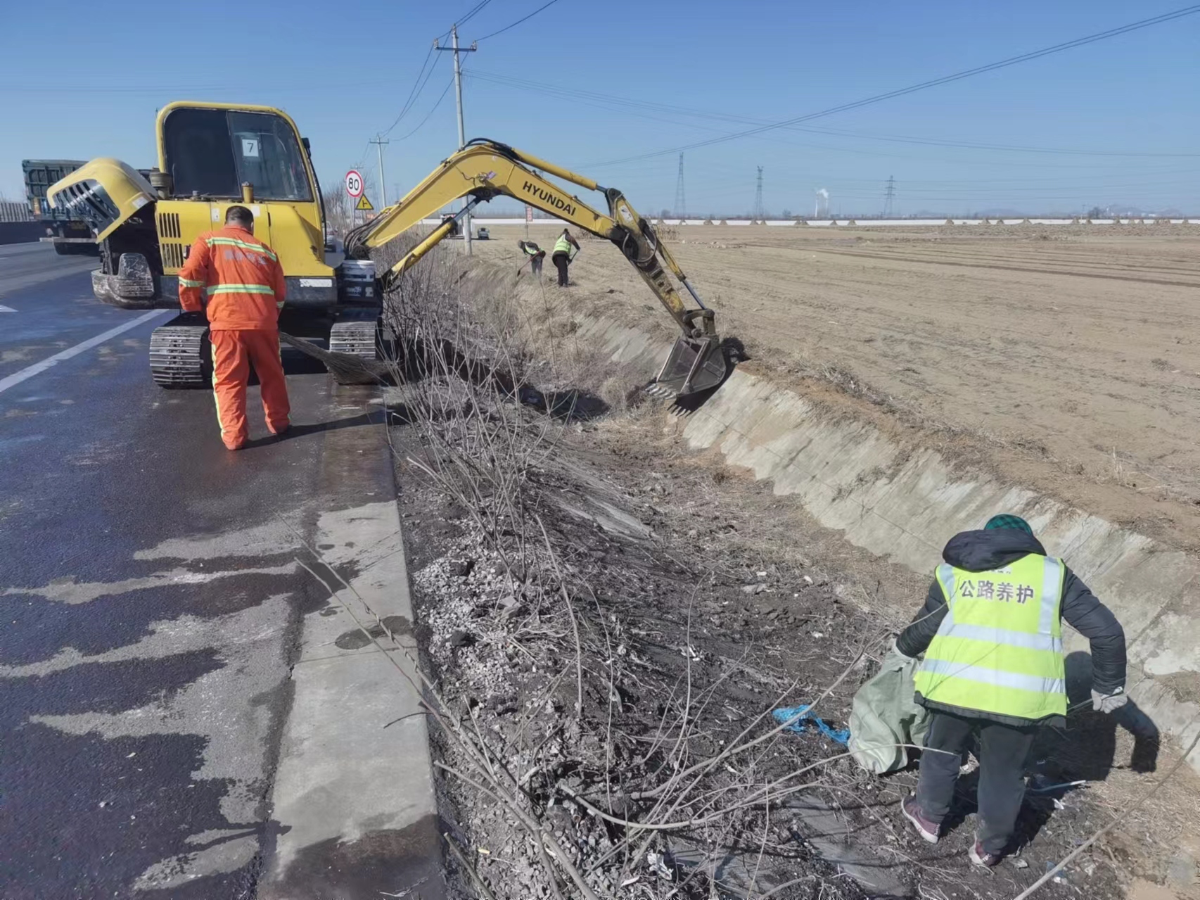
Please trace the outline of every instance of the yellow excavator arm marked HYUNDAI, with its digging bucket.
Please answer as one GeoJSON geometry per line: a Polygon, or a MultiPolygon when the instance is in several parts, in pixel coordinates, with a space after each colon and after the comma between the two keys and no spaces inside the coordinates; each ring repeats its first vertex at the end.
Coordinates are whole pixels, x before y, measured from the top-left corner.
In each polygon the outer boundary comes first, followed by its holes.
{"type": "Polygon", "coordinates": [[[505,144],[487,139],[472,140],[443,161],[400,203],[386,208],[373,221],[350,232],[346,238],[346,250],[355,254],[382,247],[421,220],[436,215],[451,202],[469,198],[456,216],[443,221],[383,274],[380,281],[386,290],[440,240],[452,234],[457,229],[458,220],[466,212],[476,204],[499,196],[512,197],[612,241],[637,269],[683,332],[655,378],[652,390],[688,395],[715,388],[724,380],[726,360],[720,347],[720,337],[716,335],[713,311],[704,306],[674,257],[662,246],[652,224],[638,215],[625,196],[614,187],[601,187],[589,178],[505,144]],[[604,193],[608,212],[594,210],[578,197],[568,194],[542,178],[540,173],[548,173],[589,191],[604,193]],[[684,304],[664,270],[662,262],[684,286],[698,308],[689,308],[684,304]]]}

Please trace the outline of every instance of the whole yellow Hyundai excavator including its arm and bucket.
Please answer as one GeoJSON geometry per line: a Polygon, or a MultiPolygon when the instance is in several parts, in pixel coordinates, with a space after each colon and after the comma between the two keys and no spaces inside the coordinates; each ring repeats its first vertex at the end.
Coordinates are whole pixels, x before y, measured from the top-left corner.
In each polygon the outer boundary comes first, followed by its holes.
{"type": "MultiPolygon", "coordinates": [[[[380,300],[395,280],[458,229],[476,204],[514,197],[611,240],[637,269],[682,330],[659,377],[658,392],[694,394],[716,386],[726,360],[713,312],[662,246],[652,224],[616,188],[493,140],[473,140],[445,160],[400,203],[346,238],[347,258],[325,258],[325,212],[308,140],[283,112],[234,103],[169,103],[156,122],[157,166],[144,178],[113,158],[89,162],[47,191],[48,202],[88,222],[101,250],[92,272],[97,299],[126,308],[178,308],[179,270],[192,242],[221,227],[226,210],[254,214],[254,233],[275,250],[287,277],[283,331],[328,341],[335,353],[374,359],[380,300]],[[535,172],[536,169],[536,172],[535,172]],[[550,173],[601,191],[601,214],[546,180],[550,173]],[[452,200],[463,209],[444,221],[382,277],[370,250],[380,247],[452,200]],[[695,299],[688,308],[660,264],[695,299]]],[[[208,324],[182,313],[154,330],[150,370],[163,388],[210,383],[208,324]]]]}

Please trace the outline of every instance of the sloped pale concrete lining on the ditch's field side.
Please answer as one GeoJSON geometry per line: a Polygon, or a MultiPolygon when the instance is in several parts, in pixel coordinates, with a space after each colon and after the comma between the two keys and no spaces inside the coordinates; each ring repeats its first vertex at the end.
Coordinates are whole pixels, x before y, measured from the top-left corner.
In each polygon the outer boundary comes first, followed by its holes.
{"type": "MultiPolygon", "coordinates": [[[[644,332],[599,317],[581,320],[580,335],[647,378],[667,353],[644,332]]],[[[932,572],[955,533],[979,528],[1002,510],[1024,516],[1121,619],[1133,700],[1183,746],[1200,731],[1200,703],[1187,700],[1200,692],[1194,554],[953,466],[934,450],[901,446],[869,422],[824,414],[794,391],[743,371],[682,421],[690,448],[719,450],[731,466],[772,481],[776,494],[797,496],[851,544],[919,574],[932,572]]],[[[1087,649],[1069,630],[1066,644],[1087,649]]],[[[1200,772],[1200,748],[1188,762],[1200,772]]]]}

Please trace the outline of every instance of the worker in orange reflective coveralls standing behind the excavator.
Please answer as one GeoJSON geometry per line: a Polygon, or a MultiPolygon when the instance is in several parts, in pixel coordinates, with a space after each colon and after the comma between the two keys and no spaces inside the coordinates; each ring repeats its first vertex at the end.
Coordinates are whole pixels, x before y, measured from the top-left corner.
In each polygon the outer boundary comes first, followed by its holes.
{"type": "Polygon", "coordinates": [[[179,270],[179,304],[204,310],[212,341],[212,396],[221,440],[229,450],[246,445],[246,383],[254,365],[263,413],[272,434],[288,430],[288,386],[280,360],[283,268],[275,251],[254,238],[254,216],[230,206],[226,227],[196,239],[179,270]],[[208,302],[205,304],[205,296],[208,302]]]}

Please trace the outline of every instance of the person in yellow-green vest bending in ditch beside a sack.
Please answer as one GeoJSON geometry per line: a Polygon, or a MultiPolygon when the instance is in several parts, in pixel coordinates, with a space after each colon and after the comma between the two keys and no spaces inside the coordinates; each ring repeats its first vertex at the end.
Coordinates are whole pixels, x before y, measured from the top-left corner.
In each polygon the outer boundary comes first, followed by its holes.
{"type": "Polygon", "coordinates": [[[1039,726],[1064,725],[1062,619],[1092,644],[1092,708],[1126,703],[1121,623],[1019,516],[988,520],[942,552],[925,605],[896,638],[916,658],[917,702],[930,710],[917,793],[905,818],[936,844],[950,810],[961,752],[979,748],[979,823],[971,862],[994,866],[1012,850],[1025,762],[1039,726]]]}

